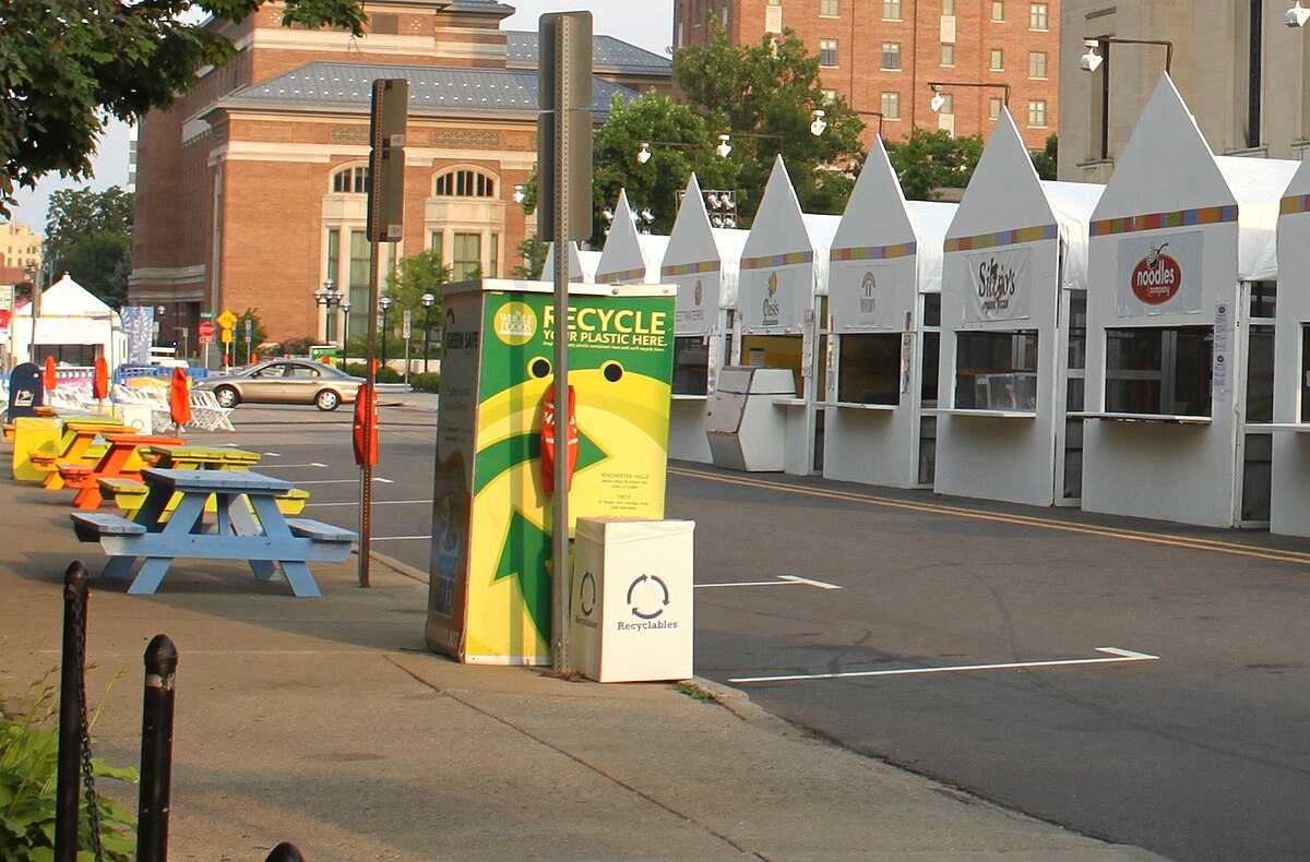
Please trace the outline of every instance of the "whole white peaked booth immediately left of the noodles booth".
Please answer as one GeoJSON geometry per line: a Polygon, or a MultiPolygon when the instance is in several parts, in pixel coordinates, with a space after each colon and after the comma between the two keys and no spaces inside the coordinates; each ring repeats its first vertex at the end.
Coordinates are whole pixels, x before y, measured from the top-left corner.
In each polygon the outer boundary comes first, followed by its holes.
{"type": "Polygon", "coordinates": [[[1002,110],[946,234],[939,494],[1077,504],[1087,223],[1103,186],[1047,182],[1002,110]]]}

